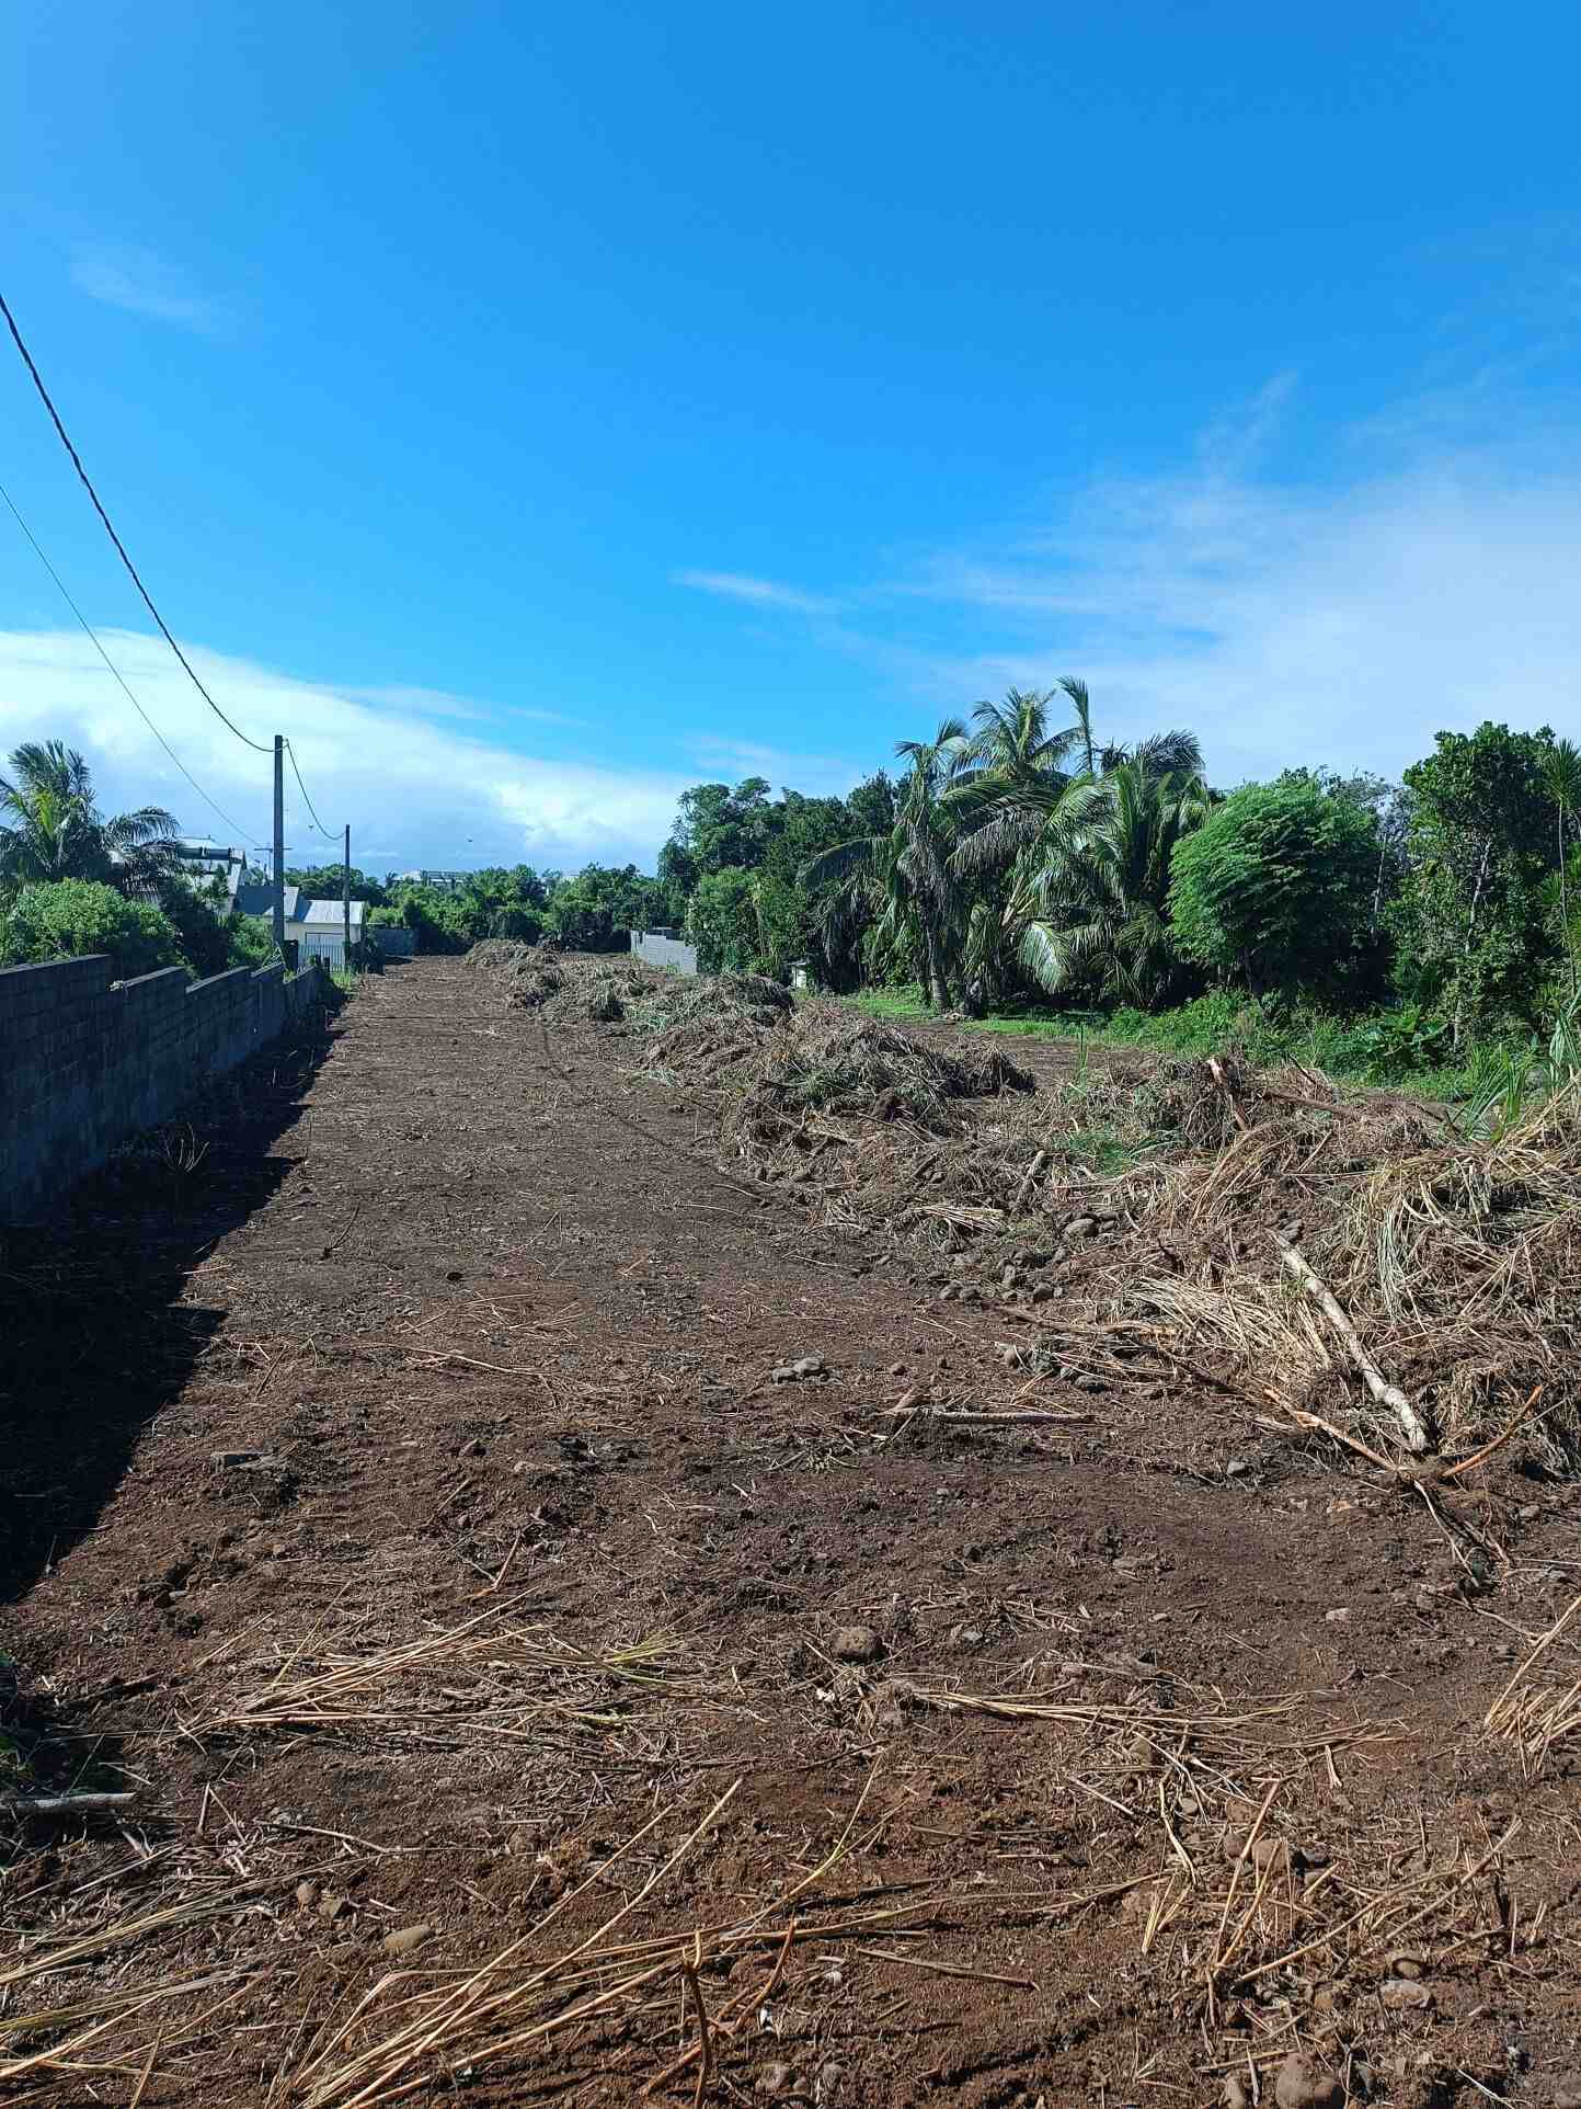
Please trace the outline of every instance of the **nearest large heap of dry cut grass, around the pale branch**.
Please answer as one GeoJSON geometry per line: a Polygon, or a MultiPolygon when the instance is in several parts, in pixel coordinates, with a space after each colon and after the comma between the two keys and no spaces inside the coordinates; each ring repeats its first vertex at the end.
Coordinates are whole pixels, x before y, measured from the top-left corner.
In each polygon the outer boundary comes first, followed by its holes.
{"type": "MultiPolygon", "coordinates": [[[[1311,1082],[1307,1084],[1311,1090],[1311,1082]]],[[[1153,1164],[1124,1185],[1172,1261],[1130,1280],[1128,1316],[1227,1354],[1256,1396],[1387,1415],[1355,1352],[1292,1284],[1294,1244],[1332,1291],[1366,1356],[1410,1392],[1431,1447],[1520,1428],[1522,1455],[1581,1464],[1581,1090],[1480,1139],[1387,1099],[1221,1092],[1227,1147],[1153,1164]]],[[[1511,1459],[1514,1462],[1514,1453],[1511,1459]]]]}

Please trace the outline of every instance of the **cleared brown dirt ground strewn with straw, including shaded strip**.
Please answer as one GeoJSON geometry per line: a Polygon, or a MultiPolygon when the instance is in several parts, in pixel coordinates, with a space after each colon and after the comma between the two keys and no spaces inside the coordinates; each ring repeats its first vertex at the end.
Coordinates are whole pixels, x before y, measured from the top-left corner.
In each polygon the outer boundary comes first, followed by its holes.
{"type": "Polygon", "coordinates": [[[6,1242],[13,1786],[135,1797],[0,1810],[8,2098],[1575,2109],[1575,1487],[1041,1373],[637,1040],[413,962],[6,1242]]]}

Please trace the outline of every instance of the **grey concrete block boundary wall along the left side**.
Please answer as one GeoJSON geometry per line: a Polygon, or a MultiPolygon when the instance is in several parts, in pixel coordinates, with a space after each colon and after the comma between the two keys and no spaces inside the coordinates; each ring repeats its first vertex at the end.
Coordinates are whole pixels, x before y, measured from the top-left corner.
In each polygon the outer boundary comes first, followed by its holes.
{"type": "Polygon", "coordinates": [[[171,1120],[323,993],[312,966],[190,985],[179,966],[112,983],[103,955],[0,968],[0,1223],[44,1217],[116,1143],[171,1120]]]}

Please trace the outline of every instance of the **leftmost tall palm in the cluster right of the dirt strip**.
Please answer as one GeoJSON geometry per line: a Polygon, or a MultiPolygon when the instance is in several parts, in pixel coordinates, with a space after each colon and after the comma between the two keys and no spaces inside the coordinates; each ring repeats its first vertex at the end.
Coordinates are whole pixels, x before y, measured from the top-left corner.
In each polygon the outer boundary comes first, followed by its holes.
{"type": "Polygon", "coordinates": [[[803,886],[839,879],[835,915],[868,905],[879,917],[879,943],[909,945],[921,962],[928,1002],[949,1010],[963,941],[961,886],[951,869],[959,820],[951,787],[970,768],[972,740],[959,717],[946,717],[932,740],[900,740],[909,763],[894,827],[856,835],[809,856],[803,886]]]}

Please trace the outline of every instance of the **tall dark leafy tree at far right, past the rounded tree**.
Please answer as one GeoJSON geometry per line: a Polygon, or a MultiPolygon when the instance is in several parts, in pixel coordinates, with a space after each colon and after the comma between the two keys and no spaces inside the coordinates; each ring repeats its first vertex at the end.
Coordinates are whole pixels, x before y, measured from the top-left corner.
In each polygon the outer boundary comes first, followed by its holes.
{"type": "Polygon", "coordinates": [[[1558,867],[1545,785],[1554,734],[1440,732],[1406,770],[1410,869],[1393,905],[1406,993],[1442,1006],[1455,1046],[1535,1019],[1554,970],[1545,884],[1558,867]]]}

